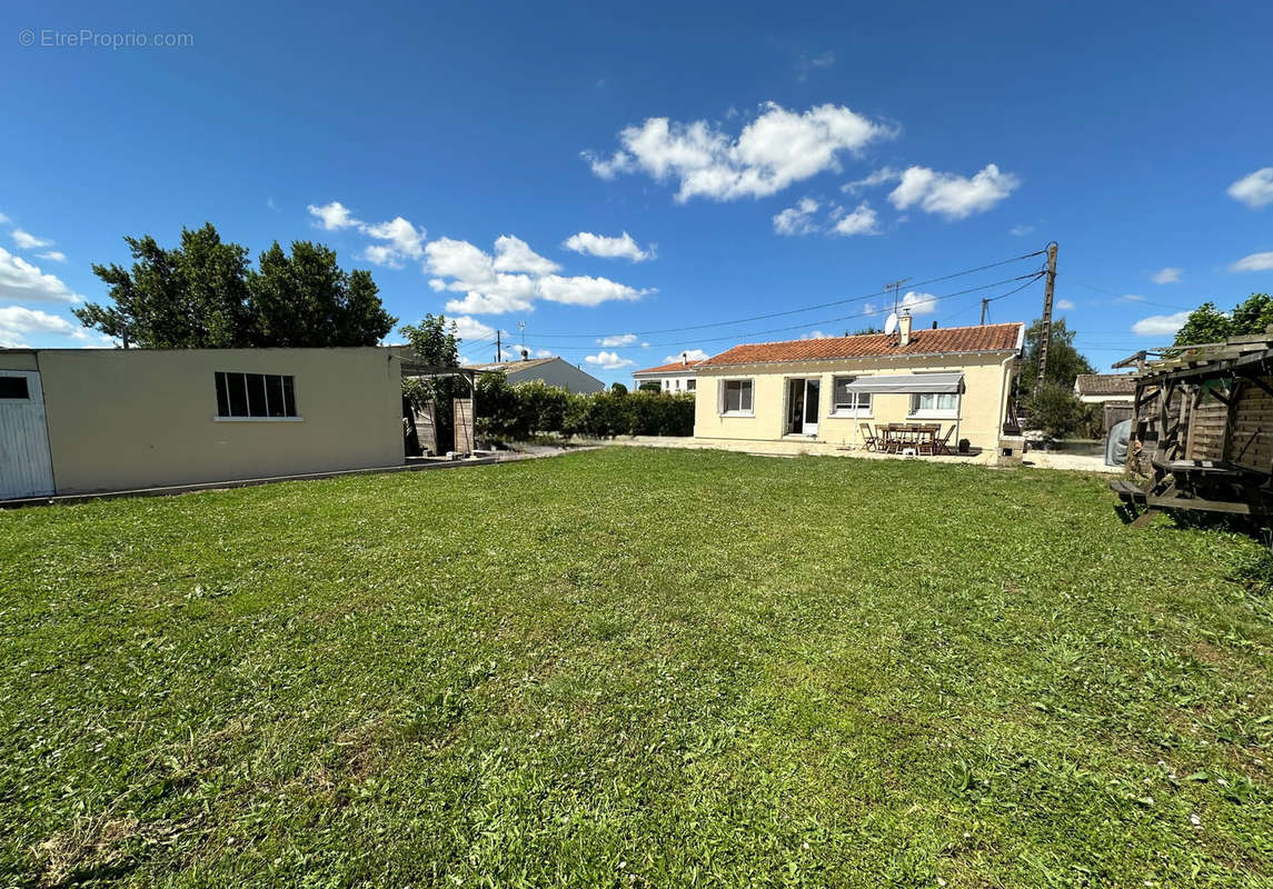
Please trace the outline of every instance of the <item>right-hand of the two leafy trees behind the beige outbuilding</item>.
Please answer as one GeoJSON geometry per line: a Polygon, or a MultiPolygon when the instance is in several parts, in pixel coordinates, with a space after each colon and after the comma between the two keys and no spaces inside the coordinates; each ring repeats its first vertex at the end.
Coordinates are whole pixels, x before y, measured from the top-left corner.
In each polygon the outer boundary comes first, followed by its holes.
{"type": "Polygon", "coordinates": [[[257,267],[248,273],[255,346],[374,346],[397,322],[372,273],[344,271],[322,244],[295,240],[288,256],[275,242],[257,267]]]}

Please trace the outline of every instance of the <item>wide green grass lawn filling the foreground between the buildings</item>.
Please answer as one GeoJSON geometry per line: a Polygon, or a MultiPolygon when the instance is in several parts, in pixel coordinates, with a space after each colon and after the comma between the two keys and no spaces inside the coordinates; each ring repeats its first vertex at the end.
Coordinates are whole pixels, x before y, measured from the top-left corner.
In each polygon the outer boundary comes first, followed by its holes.
{"type": "Polygon", "coordinates": [[[1254,541],[608,449],[0,514],[0,885],[1273,883],[1254,541]]]}

